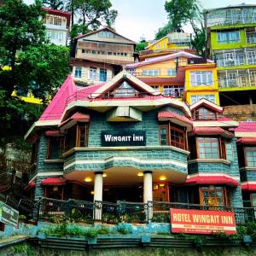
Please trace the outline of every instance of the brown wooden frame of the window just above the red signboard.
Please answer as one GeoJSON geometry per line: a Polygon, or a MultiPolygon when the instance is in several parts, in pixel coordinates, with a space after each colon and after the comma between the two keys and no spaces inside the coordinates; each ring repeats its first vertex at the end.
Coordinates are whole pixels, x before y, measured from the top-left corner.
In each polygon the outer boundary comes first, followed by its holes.
{"type": "Polygon", "coordinates": [[[200,197],[200,204],[201,206],[208,206],[208,207],[230,207],[230,189],[228,189],[226,186],[201,186],[199,187],[199,197],[200,197]],[[211,188],[212,187],[212,188],[211,188]],[[208,193],[211,191],[222,192],[222,205],[204,205],[204,196],[203,192],[207,191],[208,193]]]}

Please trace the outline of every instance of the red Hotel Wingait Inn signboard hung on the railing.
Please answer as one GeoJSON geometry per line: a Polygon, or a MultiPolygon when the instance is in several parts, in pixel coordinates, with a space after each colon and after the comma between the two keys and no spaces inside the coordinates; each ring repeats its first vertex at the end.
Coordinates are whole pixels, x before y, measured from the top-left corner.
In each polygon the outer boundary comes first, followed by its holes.
{"type": "Polygon", "coordinates": [[[183,210],[171,208],[172,233],[236,234],[234,212],[183,210]]]}

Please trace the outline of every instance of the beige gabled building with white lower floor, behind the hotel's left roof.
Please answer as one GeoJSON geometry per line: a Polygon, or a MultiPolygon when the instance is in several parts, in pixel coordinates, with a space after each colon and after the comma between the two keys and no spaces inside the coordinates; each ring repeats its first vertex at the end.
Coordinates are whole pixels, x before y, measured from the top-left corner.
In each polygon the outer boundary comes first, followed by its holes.
{"type": "Polygon", "coordinates": [[[88,85],[109,81],[134,61],[135,46],[108,27],[75,38],[73,79],[88,85]]]}

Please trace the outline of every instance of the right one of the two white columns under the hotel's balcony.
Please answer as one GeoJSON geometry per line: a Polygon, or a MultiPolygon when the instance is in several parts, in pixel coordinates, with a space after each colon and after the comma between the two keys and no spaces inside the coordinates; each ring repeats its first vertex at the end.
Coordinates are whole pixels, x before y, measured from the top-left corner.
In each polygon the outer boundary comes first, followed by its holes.
{"type": "MultiPolygon", "coordinates": [[[[143,202],[147,204],[148,201],[153,201],[152,172],[145,171],[143,174],[143,202]]],[[[145,213],[146,217],[150,221],[153,217],[153,206],[151,203],[148,203],[148,209],[145,209],[145,213]]]]}

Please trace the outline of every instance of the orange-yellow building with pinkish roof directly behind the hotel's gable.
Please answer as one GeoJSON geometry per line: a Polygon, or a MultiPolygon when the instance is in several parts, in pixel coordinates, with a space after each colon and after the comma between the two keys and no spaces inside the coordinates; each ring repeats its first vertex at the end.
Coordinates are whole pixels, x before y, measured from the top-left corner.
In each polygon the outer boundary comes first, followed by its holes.
{"type": "Polygon", "coordinates": [[[126,69],[164,96],[183,98],[189,105],[201,98],[219,104],[216,65],[199,55],[178,51],[128,64],[126,69]]]}

